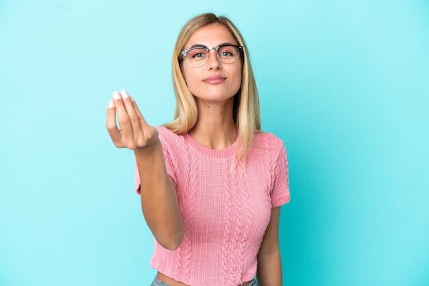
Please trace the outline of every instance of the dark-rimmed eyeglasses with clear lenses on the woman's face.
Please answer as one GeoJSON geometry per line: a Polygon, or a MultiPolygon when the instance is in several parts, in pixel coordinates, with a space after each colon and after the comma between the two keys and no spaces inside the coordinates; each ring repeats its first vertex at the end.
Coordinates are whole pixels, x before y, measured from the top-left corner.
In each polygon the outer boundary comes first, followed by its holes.
{"type": "Polygon", "coordinates": [[[181,52],[184,57],[186,57],[186,61],[191,66],[202,66],[206,64],[208,60],[208,53],[210,50],[215,50],[217,58],[223,62],[224,64],[232,64],[238,60],[240,57],[240,52],[243,50],[242,46],[238,46],[236,44],[220,44],[218,47],[208,48],[203,45],[199,45],[198,47],[192,47],[191,49],[186,49],[181,52]]]}

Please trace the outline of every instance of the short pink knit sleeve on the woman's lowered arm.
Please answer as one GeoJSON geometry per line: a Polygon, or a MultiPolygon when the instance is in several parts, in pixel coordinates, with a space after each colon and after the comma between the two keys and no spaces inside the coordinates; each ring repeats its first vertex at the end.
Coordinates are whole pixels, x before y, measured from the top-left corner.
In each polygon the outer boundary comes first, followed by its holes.
{"type": "Polygon", "coordinates": [[[274,182],[271,189],[271,208],[289,203],[289,170],[284,142],[280,142],[280,151],[275,161],[274,182]]]}

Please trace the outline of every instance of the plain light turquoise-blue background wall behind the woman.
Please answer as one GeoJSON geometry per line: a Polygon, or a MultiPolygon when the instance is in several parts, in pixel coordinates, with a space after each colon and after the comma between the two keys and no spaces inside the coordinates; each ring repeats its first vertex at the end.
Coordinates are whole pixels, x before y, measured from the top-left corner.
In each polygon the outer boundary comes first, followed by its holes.
{"type": "MultiPolygon", "coordinates": [[[[284,285],[429,285],[428,1],[0,1],[0,285],[149,285],[154,241],[113,90],[173,119],[189,18],[243,34],[284,140],[284,285]]],[[[263,286],[263,285],[262,285],[263,286]]]]}

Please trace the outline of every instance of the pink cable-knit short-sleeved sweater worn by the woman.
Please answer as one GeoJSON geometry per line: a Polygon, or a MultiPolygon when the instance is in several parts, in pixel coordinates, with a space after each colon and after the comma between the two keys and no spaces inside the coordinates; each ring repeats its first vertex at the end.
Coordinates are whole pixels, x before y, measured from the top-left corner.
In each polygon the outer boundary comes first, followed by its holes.
{"type": "MultiPolygon", "coordinates": [[[[254,133],[254,143],[269,148],[249,148],[246,183],[241,161],[229,175],[238,140],[214,150],[188,133],[177,135],[167,127],[156,128],[167,173],[175,181],[184,239],[176,250],[165,249],[154,239],[151,267],[191,286],[236,286],[251,281],[271,208],[291,199],[283,141],[273,133],[254,133]]],[[[140,194],[135,158],[134,163],[135,190],[140,194]]]]}

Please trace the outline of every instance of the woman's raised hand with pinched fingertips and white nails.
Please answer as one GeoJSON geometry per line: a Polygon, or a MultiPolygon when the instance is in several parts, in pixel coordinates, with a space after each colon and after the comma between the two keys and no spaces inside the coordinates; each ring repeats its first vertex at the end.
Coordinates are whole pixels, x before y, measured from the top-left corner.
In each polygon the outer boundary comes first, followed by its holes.
{"type": "Polygon", "coordinates": [[[121,94],[115,90],[112,96],[113,101],[109,101],[106,127],[114,146],[134,151],[156,146],[159,142],[158,130],[147,124],[136,101],[125,90],[122,90],[121,94]],[[116,110],[121,129],[117,127],[116,110]]]}

